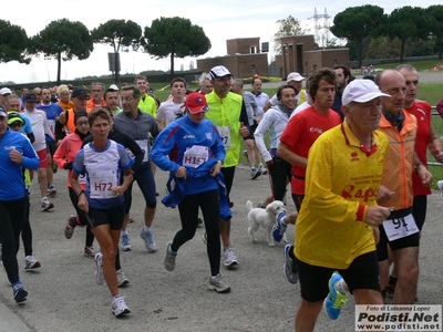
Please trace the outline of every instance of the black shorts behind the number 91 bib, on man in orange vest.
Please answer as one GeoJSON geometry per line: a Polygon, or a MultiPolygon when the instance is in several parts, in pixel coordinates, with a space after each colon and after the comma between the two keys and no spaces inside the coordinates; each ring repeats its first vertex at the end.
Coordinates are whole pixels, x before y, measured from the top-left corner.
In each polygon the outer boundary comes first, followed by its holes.
{"type": "MultiPolygon", "coordinates": [[[[411,211],[412,211],[411,208],[396,210],[396,211],[391,212],[391,215],[388,217],[388,219],[405,217],[405,216],[410,215],[411,211]]],[[[380,229],[380,241],[377,245],[377,256],[379,257],[379,261],[383,261],[383,260],[388,259],[388,245],[391,248],[391,250],[400,250],[403,248],[420,246],[420,232],[415,232],[408,237],[396,239],[393,241],[389,241],[387,232],[384,231],[383,225],[380,225],[379,229],[380,229]]]]}

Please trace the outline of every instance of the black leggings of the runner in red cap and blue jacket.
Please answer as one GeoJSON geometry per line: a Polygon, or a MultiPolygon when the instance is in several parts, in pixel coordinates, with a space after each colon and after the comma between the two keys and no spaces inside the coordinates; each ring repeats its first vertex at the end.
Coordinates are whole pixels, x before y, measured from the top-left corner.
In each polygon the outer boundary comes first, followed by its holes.
{"type": "Polygon", "coordinates": [[[171,246],[177,252],[179,247],[194,238],[198,225],[198,207],[203,212],[207,235],[207,255],[210,264],[210,274],[217,276],[220,271],[220,230],[219,230],[219,190],[208,190],[194,195],[186,195],[178,205],[182,219],[182,229],[177,231],[171,246]]]}

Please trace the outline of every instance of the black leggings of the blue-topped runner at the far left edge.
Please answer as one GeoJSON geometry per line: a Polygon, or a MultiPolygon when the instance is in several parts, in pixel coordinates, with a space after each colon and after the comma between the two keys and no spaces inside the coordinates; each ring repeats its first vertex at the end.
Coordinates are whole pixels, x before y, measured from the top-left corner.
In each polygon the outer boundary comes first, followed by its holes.
{"type": "Polygon", "coordinates": [[[1,259],[11,283],[16,283],[20,280],[17,252],[20,248],[20,232],[24,222],[27,199],[28,197],[23,197],[14,200],[0,201],[1,259]]]}

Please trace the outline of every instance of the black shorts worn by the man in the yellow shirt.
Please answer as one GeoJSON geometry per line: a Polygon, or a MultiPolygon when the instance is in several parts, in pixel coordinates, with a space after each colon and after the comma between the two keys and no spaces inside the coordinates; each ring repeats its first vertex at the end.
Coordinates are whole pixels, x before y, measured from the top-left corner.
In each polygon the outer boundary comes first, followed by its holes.
{"type": "Polygon", "coordinates": [[[308,302],[323,301],[329,293],[329,279],[338,271],[347,282],[351,293],[356,289],[380,291],[379,262],[377,252],[371,251],[357,257],[346,270],[311,266],[296,257],[300,280],[301,298],[308,302]]]}

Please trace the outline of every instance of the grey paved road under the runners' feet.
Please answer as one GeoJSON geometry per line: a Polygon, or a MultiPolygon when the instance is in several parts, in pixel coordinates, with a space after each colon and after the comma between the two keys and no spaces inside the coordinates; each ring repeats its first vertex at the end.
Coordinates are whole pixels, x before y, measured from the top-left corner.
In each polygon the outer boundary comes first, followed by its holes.
{"type": "MultiPolygon", "coordinates": [[[[209,264],[200,240],[203,229],[181,248],[176,269],[165,270],[166,243],[179,227],[177,209],[158,204],[154,235],[158,252],[147,253],[138,236],[143,201],[134,188],[130,225],[133,251],[122,253],[122,266],[131,284],[122,290],[132,313],[115,319],[111,313],[111,294],[93,280],[93,260],[83,256],[84,230],[75,229],[71,240],[63,235],[66,216],[73,212],[65,189],[65,173],[59,170],[53,199],[55,209],[39,209],[33,186],[31,222],[34,256],[42,267],[24,271],[23,252],[19,252],[20,273],[29,291],[28,301],[17,305],[12,290],[0,269],[0,331],[291,331],[293,313],[300,301],[299,287],[286,281],[282,273],[282,243],[274,248],[265,242],[260,230],[257,243],[247,235],[246,200],[255,204],[268,194],[264,176],[251,181],[249,170],[238,167],[231,198],[235,201],[231,239],[239,257],[237,270],[222,269],[233,291],[217,294],[207,290],[209,264]]],[[[157,172],[158,191],[163,194],[166,174],[157,172]]],[[[430,197],[426,225],[422,236],[419,303],[442,303],[443,199],[440,193],[430,197]]],[[[293,204],[288,204],[292,210],[293,204]]],[[[293,240],[293,228],[288,231],[293,240]]],[[[339,241],[339,239],[338,239],[339,241]]],[[[99,247],[97,245],[95,245],[99,247]]],[[[353,331],[353,300],[338,321],[320,314],[316,331],[353,331]]]]}

